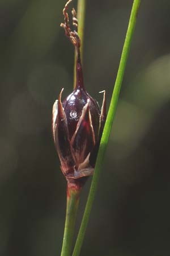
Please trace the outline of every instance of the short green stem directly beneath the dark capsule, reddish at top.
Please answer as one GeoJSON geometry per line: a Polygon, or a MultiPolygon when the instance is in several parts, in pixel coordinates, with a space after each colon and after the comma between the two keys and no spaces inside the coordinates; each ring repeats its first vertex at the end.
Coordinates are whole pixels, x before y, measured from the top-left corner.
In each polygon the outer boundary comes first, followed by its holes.
{"type": "Polygon", "coordinates": [[[67,209],[61,256],[70,256],[80,190],[67,187],[67,209]]]}

